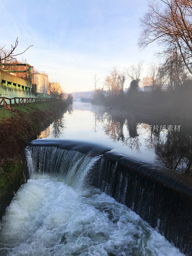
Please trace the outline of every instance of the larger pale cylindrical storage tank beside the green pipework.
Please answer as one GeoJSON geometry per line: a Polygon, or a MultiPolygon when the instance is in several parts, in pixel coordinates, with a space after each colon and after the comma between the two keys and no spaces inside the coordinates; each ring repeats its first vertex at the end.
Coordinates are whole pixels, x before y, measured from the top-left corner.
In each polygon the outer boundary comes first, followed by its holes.
{"type": "Polygon", "coordinates": [[[34,73],[34,83],[37,85],[37,92],[48,94],[48,75],[34,73]]]}

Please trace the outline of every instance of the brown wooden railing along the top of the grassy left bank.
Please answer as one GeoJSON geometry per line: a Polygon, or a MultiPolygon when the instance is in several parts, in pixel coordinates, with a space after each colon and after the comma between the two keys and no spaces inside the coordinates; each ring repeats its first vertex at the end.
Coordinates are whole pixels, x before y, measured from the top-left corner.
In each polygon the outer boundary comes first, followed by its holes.
{"type": "Polygon", "coordinates": [[[51,98],[6,98],[6,97],[0,97],[0,107],[5,107],[7,105],[10,105],[11,107],[14,105],[14,107],[20,107],[20,106],[27,106],[27,104],[40,104],[45,102],[52,101],[51,98]],[[14,103],[12,103],[12,100],[14,100],[14,103]],[[18,100],[18,102],[17,102],[18,100]],[[8,103],[9,102],[9,103],[8,103]]]}

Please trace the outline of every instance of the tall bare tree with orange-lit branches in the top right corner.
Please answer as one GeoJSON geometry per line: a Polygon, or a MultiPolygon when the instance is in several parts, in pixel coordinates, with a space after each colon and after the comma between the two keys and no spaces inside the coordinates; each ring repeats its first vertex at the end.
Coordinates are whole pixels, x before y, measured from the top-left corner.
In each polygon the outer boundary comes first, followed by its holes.
{"type": "Polygon", "coordinates": [[[158,41],[168,50],[175,47],[192,75],[192,1],[155,0],[148,4],[148,12],[140,19],[142,32],[139,46],[158,41]]]}

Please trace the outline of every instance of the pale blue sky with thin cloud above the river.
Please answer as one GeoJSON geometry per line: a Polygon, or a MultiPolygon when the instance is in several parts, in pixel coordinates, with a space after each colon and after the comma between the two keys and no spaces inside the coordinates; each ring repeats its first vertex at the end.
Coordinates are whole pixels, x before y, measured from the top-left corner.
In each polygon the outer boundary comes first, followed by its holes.
{"type": "Polygon", "coordinates": [[[156,44],[138,48],[145,0],[0,0],[0,6],[0,46],[10,49],[17,37],[17,53],[33,45],[18,59],[48,73],[65,92],[93,90],[95,74],[102,88],[113,67],[123,71],[140,60],[145,76],[158,51],[156,44]]]}

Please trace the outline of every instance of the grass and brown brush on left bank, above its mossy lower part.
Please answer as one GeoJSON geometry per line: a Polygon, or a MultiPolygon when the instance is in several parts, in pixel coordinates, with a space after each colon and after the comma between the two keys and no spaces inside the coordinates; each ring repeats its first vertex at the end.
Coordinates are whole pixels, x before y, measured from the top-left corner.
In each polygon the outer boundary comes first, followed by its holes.
{"type": "Polygon", "coordinates": [[[0,159],[20,155],[27,142],[36,138],[38,127],[53,120],[66,107],[67,103],[57,107],[52,103],[44,103],[20,108],[0,108],[0,159]]]}

